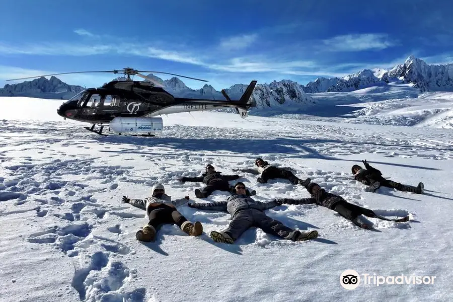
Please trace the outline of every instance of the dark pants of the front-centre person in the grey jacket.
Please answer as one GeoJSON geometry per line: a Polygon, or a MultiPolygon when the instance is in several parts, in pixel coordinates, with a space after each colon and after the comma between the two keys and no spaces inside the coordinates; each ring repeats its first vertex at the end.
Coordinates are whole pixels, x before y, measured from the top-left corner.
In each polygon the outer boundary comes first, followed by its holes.
{"type": "Polygon", "coordinates": [[[245,209],[236,213],[233,219],[223,233],[227,233],[233,240],[237,240],[242,233],[252,226],[260,228],[265,233],[283,238],[292,239],[294,230],[278,220],[267,216],[263,211],[258,209],[245,209]]]}

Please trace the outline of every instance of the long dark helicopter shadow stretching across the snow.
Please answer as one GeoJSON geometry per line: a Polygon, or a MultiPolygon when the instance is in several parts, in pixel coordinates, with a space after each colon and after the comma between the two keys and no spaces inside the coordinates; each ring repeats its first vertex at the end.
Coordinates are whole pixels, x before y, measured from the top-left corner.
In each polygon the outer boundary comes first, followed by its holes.
{"type": "MultiPolygon", "coordinates": [[[[202,154],[204,152],[218,152],[218,151],[226,151],[238,154],[252,154],[252,160],[255,160],[257,156],[261,154],[269,154],[269,155],[280,155],[285,154],[288,155],[288,158],[316,158],[316,159],[323,159],[323,160],[336,160],[336,161],[350,161],[350,162],[359,162],[359,160],[343,160],[338,159],[333,156],[324,155],[318,152],[314,147],[308,146],[309,144],[319,144],[320,146],[326,143],[332,144],[351,144],[351,145],[358,145],[363,147],[363,145],[376,145],[376,146],[391,146],[391,147],[399,147],[400,149],[408,148],[413,150],[414,146],[410,145],[397,145],[397,144],[385,144],[385,143],[374,143],[374,142],[367,142],[367,141],[346,141],[341,139],[305,139],[305,138],[271,138],[271,139],[261,139],[261,138],[183,138],[183,137],[152,137],[152,138],[144,138],[144,137],[121,137],[117,135],[107,136],[107,137],[96,137],[98,141],[102,142],[109,142],[112,143],[127,143],[132,145],[137,145],[140,147],[147,146],[147,147],[172,147],[176,150],[186,150],[191,152],[197,152],[198,154],[202,154]]],[[[424,147],[424,146],[417,146],[416,148],[419,149],[426,149],[426,150],[444,150],[444,151],[453,151],[453,148],[434,148],[434,147],[424,147]]],[[[141,152],[139,149],[137,150],[100,150],[100,152],[105,153],[134,153],[134,154],[142,154],[142,155],[156,155],[162,156],[162,153],[154,153],[154,152],[141,152]]],[[[177,155],[174,152],[169,153],[171,155],[177,155]]],[[[234,155],[223,155],[232,157],[234,155]]],[[[361,160],[361,159],[360,159],[361,160]]],[[[421,166],[410,166],[404,164],[390,164],[385,162],[369,162],[374,164],[382,164],[382,165],[392,165],[392,166],[399,166],[399,167],[408,167],[408,168],[417,168],[417,169],[425,169],[425,170],[441,170],[436,168],[428,168],[428,167],[421,167],[421,166]]]]}

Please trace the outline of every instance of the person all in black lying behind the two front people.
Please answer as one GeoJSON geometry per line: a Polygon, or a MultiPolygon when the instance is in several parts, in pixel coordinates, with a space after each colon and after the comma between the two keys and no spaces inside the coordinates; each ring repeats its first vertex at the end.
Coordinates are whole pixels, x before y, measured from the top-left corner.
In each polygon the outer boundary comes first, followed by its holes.
{"type": "MultiPolygon", "coordinates": [[[[203,182],[206,184],[206,187],[200,191],[200,189],[195,189],[195,196],[198,198],[206,198],[212,194],[215,190],[227,191],[231,194],[235,194],[234,187],[230,186],[228,183],[230,180],[236,180],[240,178],[239,175],[220,175],[221,172],[215,171],[212,165],[206,166],[206,171],[201,175],[201,177],[183,177],[180,179],[181,182],[185,183],[186,181],[190,182],[203,182]]],[[[246,191],[248,196],[253,196],[256,194],[256,191],[253,190],[249,192],[246,191]]]]}

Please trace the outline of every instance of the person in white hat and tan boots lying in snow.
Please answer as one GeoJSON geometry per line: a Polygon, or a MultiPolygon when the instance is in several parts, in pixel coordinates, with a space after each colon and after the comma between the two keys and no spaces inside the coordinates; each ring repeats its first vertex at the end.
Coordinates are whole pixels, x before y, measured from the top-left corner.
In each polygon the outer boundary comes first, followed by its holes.
{"type": "Polygon", "coordinates": [[[143,199],[130,199],[123,196],[122,202],[129,203],[135,207],[146,210],[149,222],[135,234],[137,240],[151,242],[154,241],[160,224],[176,224],[179,228],[190,236],[199,236],[203,233],[203,226],[200,222],[192,223],[184,217],[176,207],[189,201],[189,196],[181,199],[172,200],[171,196],[165,194],[162,184],[153,186],[153,195],[143,199]]]}

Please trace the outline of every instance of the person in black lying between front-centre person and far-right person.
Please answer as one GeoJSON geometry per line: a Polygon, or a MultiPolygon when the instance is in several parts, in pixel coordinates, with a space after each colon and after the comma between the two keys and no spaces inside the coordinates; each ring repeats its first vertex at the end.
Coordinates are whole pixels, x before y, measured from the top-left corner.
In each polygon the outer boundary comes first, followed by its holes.
{"type": "Polygon", "coordinates": [[[379,218],[382,220],[389,220],[395,222],[404,222],[409,220],[409,216],[406,216],[401,219],[388,219],[386,217],[380,216],[374,213],[372,210],[352,204],[343,199],[339,195],[332,193],[327,193],[326,190],[321,189],[317,183],[310,183],[306,186],[307,191],[312,195],[311,198],[300,198],[300,199],[291,199],[291,198],[279,198],[273,201],[277,203],[285,204],[310,204],[316,203],[317,205],[324,206],[331,210],[336,211],[341,216],[345,217],[348,220],[351,220],[357,226],[363,229],[372,229],[372,226],[363,221],[363,216],[372,218],[379,218]]]}

